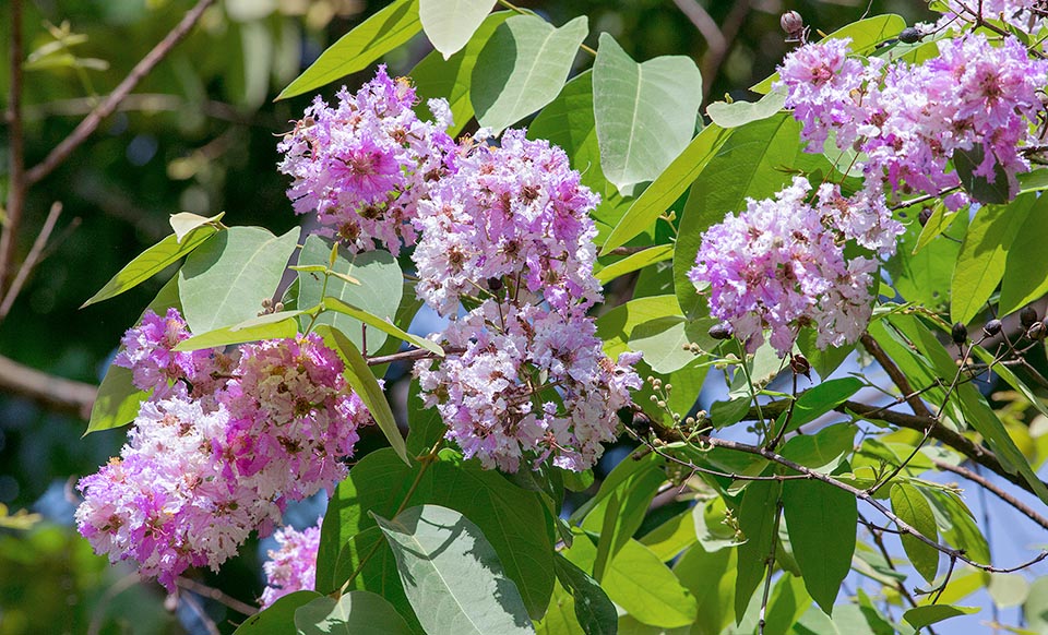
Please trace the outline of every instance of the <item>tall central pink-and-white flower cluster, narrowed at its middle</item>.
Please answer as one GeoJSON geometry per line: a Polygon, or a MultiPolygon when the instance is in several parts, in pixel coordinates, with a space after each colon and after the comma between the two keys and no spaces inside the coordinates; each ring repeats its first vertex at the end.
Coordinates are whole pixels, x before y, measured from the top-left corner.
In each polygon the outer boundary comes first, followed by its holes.
{"type": "Polygon", "coordinates": [[[464,352],[416,364],[426,406],[486,467],[552,457],[586,469],[641,385],[640,356],[608,359],[586,314],[602,297],[588,216],[598,199],[562,149],[522,130],[464,149],[456,167],[419,203],[417,293],[445,315],[474,308],[442,334],[464,352]]]}

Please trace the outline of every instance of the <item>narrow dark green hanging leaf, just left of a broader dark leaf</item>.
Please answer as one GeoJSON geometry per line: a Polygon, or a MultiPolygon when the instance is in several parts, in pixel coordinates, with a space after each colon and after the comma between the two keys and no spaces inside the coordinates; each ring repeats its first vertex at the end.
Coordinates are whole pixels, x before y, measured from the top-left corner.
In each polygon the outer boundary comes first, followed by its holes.
{"type": "Polygon", "coordinates": [[[752,481],[742,494],[739,507],[739,528],[746,542],[739,546],[738,577],[735,580],[735,621],[741,623],[746,607],[758,585],[764,578],[766,560],[772,552],[772,528],[778,514],[782,483],[752,481]]]}

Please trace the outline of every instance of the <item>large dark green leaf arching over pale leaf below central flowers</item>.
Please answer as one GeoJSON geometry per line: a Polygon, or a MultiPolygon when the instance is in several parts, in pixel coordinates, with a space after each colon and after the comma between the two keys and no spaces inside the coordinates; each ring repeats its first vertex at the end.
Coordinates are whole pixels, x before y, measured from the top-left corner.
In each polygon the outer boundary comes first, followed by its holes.
{"type": "Polygon", "coordinates": [[[393,515],[398,507],[433,503],[476,523],[499,553],[533,616],[546,610],[553,586],[552,531],[536,492],[525,491],[476,462],[438,460],[410,492],[419,465],[404,465],[389,450],[369,454],[349,470],[327,504],[317,558],[318,590],[338,588],[358,564],[338,553],[353,536],[374,526],[369,511],[393,515]],[[342,562],[337,563],[336,559],[342,562]],[[340,579],[342,578],[342,579],[340,579]]]}

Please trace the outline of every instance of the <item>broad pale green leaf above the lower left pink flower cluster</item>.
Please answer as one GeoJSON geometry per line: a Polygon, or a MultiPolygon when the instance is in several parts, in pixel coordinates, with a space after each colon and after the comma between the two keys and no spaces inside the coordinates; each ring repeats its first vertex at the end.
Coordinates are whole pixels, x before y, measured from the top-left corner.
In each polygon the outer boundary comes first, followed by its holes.
{"type": "Polygon", "coordinates": [[[275,237],[259,227],[230,227],[212,236],[178,272],[182,315],[192,333],[258,316],[272,298],[298,242],[298,228],[275,237]]]}

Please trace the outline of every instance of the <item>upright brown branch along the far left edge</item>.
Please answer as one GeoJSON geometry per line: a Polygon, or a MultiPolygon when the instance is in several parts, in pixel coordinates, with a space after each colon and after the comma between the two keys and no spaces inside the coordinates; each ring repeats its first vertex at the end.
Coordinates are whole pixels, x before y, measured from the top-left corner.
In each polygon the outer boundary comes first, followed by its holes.
{"type": "Polygon", "coordinates": [[[22,129],[22,0],[11,0],[11,45],[9,48],[10,82],[8,110],[8,209],[3,228],[0,229],[0,295],[8,288],[11,265],[14,262],[15,239],[22,223],[25,205],[25,190],[28,187],[25,176],[24,139],[22,129]]]}

